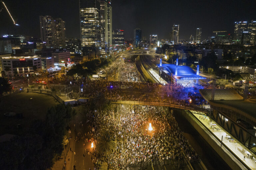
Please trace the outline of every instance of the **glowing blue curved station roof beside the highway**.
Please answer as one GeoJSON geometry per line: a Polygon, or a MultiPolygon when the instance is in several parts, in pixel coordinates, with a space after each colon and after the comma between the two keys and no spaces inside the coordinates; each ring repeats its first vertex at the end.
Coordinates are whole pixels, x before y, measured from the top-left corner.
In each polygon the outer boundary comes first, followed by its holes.
{"type": "MultiPolygon", "coordinates": [[[[160,67],[160,64],[157,64],[160,67]]],[[[177,75],[175,75],[176,65],[174,64],[162,64],[163,71],[167,73],[169,76],[173,76],[176,79],[206,79],[206,77],[202,77],[200,75],[196,75],[196,72],[185,65],[177,66],[177,75]]]]}

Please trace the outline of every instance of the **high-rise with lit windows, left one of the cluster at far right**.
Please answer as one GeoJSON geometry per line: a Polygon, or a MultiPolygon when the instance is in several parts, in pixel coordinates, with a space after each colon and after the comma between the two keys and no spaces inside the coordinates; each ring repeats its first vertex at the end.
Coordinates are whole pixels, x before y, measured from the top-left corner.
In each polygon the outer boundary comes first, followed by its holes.
{"type": "Polygon", "coordinates": [[[243,33],[247,32],[247,21],[235,22],[233,41],[243,44],[243,33]]]}

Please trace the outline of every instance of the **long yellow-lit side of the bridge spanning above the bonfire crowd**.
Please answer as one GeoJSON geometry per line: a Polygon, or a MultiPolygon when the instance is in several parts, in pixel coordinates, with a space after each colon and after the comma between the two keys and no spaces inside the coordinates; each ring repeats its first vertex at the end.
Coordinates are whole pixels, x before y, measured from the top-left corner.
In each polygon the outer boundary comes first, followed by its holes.
{"type": "Polygon", "coordinates": [[[130,104],[130,105],[148,105],[148,106],[164,106],[164,107],[170,107],[173,109],[181,109],[181,110],[187,110],[192,111],[194,113],[201,113],[201,114],[208,114],[209,110],[199,107],[197,105],[191,105],[190,106],[183,106],[183,105],[175,105],[170,103],[160,103],[160,102],[141,102],[141,101],[122,101],[122,100],[116,100],[112,101],[112,104],[130,104]]]}

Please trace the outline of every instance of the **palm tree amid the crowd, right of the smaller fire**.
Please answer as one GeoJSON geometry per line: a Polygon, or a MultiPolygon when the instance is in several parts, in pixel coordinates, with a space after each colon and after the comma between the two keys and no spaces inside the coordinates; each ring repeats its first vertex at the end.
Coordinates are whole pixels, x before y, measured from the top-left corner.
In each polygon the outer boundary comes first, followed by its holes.
{"type": "Polygon", "coordinates": [[[113,140],[107,132],[105,132],[99,137],[96,149],[107,157],[107,154],[111,154],[112,151],[116,149],[116,145],[116,141],[113,140]]]}

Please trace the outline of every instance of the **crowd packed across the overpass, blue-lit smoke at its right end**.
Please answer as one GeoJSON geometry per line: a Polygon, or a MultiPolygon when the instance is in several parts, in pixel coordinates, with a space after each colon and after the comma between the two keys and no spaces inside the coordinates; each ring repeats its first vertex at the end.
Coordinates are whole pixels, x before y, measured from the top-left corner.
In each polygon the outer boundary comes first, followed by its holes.
{"type": "Polygon", "coordinates": [[[112,101],[158,102],[181,106],[197,105],[197,107],[207,104],[198,90],[183,88],[179,84],[164,86],[159,83],[108,80],[87,80],[83,84],[85,90],[81,94],[82,97],[96,98],[99,93],[103,93],[112,101]]]}

